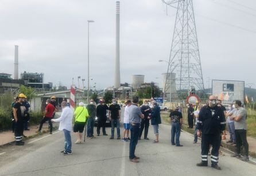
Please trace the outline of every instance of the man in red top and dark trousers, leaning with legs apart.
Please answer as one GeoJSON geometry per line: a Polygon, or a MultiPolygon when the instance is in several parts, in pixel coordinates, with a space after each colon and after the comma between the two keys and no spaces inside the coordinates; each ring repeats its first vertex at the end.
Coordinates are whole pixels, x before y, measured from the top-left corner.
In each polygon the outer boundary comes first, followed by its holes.
{"type": "Polygon", "coordinates": [[[40,127],[38,129],[38,131],[36,131],[37,133],[41,132],[42,129],[42,125],[48,121],[49,125],[50,125],[50,134],[52,134],[52,116],[55,113],[56,108],[52,105],[52,103],[50,103],[50,99],[46,99],[46,107],[45,107],[45,112],[44,112],[44,117],[41,120],[40,123],[40,127]]]}

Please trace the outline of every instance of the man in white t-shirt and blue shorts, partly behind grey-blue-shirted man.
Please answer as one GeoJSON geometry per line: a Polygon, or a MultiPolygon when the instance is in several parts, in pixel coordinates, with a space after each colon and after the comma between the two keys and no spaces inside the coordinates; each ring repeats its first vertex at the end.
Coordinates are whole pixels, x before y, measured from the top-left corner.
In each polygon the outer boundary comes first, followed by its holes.
{"type": "Polygon", "coordinates": [[[122,139],[123,142],[130,141],[130,138],[129,138],[129,130],[130,130],[129,106],[131,106],[131,101],[127,100],[125,102],[125,105],[126,105],[125,106],[125,113],[123,115],[123,127],[124,127],[124,129],[123,129],[123,139],[122,139]]]}

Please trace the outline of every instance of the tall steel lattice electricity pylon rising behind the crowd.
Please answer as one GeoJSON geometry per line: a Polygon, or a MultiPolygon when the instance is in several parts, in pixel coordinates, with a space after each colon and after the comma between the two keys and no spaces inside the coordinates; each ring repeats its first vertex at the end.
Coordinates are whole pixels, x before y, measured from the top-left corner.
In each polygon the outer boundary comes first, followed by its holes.
{"type": "MultiPolygon", "coordinates": [[[[167,75],[170,76],[169,78],[166,76],[164,91],[167,93],[168,89],[172,89],[171,74],[176,73],[176,87],[180,98],[184,90],[188,90],[188,94],[192,88],[204,92],[193,2],[192,0],[162,0],[162,2],[177,8],[167,71],[167,75]]],[[[177,94],[170,96],[174,98],[177,94]]]]}

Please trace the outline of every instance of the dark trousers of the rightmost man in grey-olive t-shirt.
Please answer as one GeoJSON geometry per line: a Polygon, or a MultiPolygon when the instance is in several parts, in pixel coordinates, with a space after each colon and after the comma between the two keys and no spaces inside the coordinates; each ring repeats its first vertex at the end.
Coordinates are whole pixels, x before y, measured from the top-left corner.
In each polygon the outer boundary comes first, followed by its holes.
{"type": "Polygon", "coordinates": [[[246,130],[235,130],[236,153],[241,154],[241,146],[245,147],[245,155],[249,155],[249,145],[246,138],[246,130]]]}

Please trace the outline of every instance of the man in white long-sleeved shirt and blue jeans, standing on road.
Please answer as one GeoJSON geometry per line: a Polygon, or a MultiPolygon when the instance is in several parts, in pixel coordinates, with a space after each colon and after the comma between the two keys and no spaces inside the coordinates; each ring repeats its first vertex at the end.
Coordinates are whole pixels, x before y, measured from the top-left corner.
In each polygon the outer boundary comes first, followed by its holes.
{"type": "Polygon", "coordinates": [[[52,119],[52,122],[60,122],[59,130],[63,130],[65,137],[65,147],[61,153],[63,155],[71,155],[72,154],[72,142],[71,142],[71,130],[72,130],[72,118],[73,111],[70,107],[67,106],[67,102],[61,103],[62,113],[60,118],[52,119]]]}

